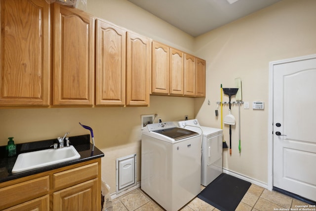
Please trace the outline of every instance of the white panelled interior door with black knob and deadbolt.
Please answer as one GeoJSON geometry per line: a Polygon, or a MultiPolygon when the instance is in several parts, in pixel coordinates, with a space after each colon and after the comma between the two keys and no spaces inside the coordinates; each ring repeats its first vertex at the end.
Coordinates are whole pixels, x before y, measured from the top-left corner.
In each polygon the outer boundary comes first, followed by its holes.
{"type": "Polygon", "coordinates": [[[273,186],[316,201],[316,59],[273,68],[273,186]]]}

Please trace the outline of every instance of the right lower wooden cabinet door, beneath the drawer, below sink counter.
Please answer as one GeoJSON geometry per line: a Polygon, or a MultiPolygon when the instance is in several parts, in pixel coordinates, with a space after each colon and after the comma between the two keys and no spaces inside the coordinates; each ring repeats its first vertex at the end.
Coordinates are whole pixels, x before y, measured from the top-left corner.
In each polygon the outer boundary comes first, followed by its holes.
{"type": "Polygon", "coordinates": [[[54,211],[96,211],[99,210],[98,179],[66,188],[53,194],[54,211]]]}

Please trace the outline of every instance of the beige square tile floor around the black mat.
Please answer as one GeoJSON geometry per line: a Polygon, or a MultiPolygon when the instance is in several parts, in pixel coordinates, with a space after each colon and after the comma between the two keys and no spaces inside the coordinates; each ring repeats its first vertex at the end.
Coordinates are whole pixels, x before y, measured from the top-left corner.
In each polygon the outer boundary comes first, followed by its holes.
{"type": "MultiPolygon", "coordinates": [[[[112,201],[113,211],[163,211],[153,199],[140,188],[137,188],[112,201]]],[[[242,198],[236,211],[280,211],[298,209],[297,206],[308,205],[305,202],[283,195],[276,191],[269,191],[252,184],[242,198]]],[[[218,211],[218,209],[194,198],[180,211],[218,211]]]]}

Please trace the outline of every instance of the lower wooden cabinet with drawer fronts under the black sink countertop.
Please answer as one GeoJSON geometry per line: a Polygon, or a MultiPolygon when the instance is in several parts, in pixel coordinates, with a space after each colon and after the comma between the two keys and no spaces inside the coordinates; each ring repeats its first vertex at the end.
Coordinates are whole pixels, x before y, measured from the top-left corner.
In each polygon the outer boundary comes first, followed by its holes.
{"type": "Polygon", "coordinates": [[[0,210],[101,210],[101,158],[0,183],[0,210]]]}

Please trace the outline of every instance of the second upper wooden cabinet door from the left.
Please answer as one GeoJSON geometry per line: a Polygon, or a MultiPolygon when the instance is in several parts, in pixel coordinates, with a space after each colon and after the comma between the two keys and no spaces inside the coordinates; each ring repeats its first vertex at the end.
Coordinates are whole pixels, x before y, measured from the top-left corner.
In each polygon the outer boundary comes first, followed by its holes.
{"type": "Polygon", "coordinates": [[[93,105],[94,18],[54,4],[54,105],[93,105]]]}

